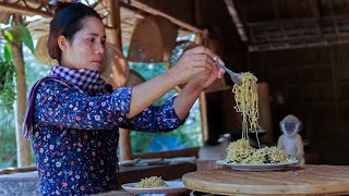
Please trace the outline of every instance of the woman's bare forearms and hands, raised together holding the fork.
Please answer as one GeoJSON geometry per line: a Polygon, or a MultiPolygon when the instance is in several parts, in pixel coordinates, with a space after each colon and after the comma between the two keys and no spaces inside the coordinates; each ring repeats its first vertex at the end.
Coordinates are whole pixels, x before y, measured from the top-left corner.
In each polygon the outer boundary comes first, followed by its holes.
{"type": "Polygon", "coordinates": [[[134,86],[131,94],[131,105],[128,118],[131,119],[149,107],[177,85],[186,83],[183,90],[174,100],[174,110],[183,120],[200,96],[202,86],[210,85],[224,71],[218,71],[213,58],[215,54],[207,48],[196,47],[183,53],[178,63],[155,78],[134,86]]]}

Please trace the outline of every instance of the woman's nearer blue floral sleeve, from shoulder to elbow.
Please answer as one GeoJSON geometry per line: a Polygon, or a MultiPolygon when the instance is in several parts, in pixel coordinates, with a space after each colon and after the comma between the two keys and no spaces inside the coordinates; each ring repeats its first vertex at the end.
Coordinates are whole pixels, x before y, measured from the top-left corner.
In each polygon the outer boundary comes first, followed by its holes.
{"type": "Polygon", "coordinates": [[[35,122],[75,130],[111,130],[127,124],[131,88],[91,97],[60,83],[40,84],[35,100],[35,122]]]}

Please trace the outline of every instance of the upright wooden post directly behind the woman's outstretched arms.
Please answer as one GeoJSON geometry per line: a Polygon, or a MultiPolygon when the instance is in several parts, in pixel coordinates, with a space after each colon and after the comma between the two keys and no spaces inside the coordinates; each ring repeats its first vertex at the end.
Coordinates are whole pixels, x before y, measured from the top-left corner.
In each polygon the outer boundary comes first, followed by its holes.
{"type": "MultiPolygon", "coordinates": [[[[115,44],[120,51],[122,51],[122,41],[121,41],[121,26],[120,26],[120,4],[119,1],[109,0],[108,2],[110,9],[110,23],[112,29],[110,29],[111,39],[110,41],[115,44]]],[[[125,85],[125,84],[124,84],[125,85]]],[[[123,85],[123,86],[124,86],[123,85]]],[[[119,128],[119,148],[120,156],[119,159],[131,160],[131,140],[130,140],[130,130],[119,128]]]]}

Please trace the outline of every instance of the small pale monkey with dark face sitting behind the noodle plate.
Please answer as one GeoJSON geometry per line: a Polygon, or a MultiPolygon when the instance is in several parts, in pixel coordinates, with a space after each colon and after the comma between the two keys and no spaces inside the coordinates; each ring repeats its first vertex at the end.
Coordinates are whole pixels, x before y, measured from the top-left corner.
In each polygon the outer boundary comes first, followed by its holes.
{"type": "Polygon", "coordinates": [[[280,128],[284,133],[277,147],[284,149],[289,156],[297,158],[299,166],[305,164],[303,140],[298,132],[301,131],[302,122],[294,115],[289,114],[280,122],[280,128]]]}

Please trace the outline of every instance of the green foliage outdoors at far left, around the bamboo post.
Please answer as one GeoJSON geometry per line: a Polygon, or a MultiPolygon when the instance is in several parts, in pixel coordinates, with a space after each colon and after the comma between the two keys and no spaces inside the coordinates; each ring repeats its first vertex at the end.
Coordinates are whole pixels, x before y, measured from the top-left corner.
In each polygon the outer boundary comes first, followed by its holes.
{"type": "MultiPolygon", "coordinates": [[[[16,140],[14,126],[14,100],[15,100],[15,69],[12,62],[11,44],[23,41],[24,62],[26,71],[27,86],[32,86],[35,81],[43,77],[43,69],[35,57],[34,44],[28,29],[17,24],[13,29],[2,29],[5,39],[0,42],[0,168],[16,166],[16,140]],[[3,57],[3,59],[1,58],[3,57]]],[[[46,75],[47,73],[45,73],[46,75]]],[[[32,161],[34,164],[34,160],[32,161]]]]}

